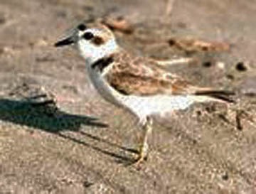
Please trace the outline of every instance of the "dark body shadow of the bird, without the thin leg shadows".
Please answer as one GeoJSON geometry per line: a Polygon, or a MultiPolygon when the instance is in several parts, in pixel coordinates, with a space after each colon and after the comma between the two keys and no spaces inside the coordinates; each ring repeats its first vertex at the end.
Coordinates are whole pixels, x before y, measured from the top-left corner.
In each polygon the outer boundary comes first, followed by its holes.
{"type": "Polygon", "coordinates": [[[0,119],[52,133],[78,131],[81,125],[107,127],[95,117],[68,114],[51,104],[41,106],[13,99],[0,99],[0,119]]]}

